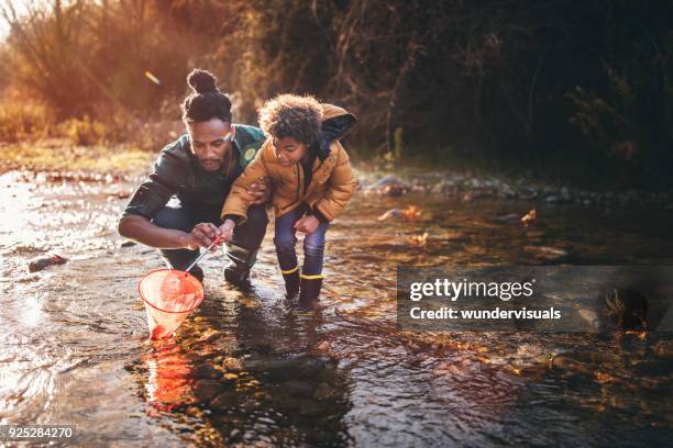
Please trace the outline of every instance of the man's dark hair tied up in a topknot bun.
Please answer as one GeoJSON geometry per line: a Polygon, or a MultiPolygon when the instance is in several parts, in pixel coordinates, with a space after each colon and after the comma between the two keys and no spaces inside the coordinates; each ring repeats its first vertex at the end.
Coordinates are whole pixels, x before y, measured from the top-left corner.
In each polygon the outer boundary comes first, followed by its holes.
{"type": "Polygon", "coordinates": [[[231,123],[231,101],[216,86],[217,78],[210,71],[195,68],[187,76],[192,92],[183,101],[185,123],[220,119],[231,123]]]}

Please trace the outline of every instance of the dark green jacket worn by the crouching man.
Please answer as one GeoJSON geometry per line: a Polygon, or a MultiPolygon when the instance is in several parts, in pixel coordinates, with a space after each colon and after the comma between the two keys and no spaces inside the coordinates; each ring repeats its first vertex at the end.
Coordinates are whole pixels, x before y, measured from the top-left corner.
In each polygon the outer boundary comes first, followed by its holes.
{"type": "Polygon", "coordinates": [[[153,172],[135,190],[122,217],[141,215],[152,220],[173,197],[195,213],[218,216],[232,183],[264,143],[262,130],[244,124],[232,126],[236,128],[232,148],[239,154],[239,164],[229,177],[207,172],[191,153],[185,134],[162,149],[153,172]]]}

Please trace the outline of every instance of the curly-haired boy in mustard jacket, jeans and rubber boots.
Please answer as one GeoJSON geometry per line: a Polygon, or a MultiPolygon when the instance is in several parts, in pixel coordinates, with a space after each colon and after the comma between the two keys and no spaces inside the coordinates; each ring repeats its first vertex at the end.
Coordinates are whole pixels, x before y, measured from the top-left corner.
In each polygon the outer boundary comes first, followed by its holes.
{"type": "Polygon", "coordinates": [[[320,104],[312,97],[282,94],[267,101],[260,110],[260,126],[267,139],[234,182],[222,209],[219,234],[229,240],[254,200],[251,184],[264,176],[272,178],[278,264],[288,296],[300,291],[301,303],[320,294],[324,234],[357,187],[349,156],[338,142],[354,122],[345,110],[320,104]],[[297,231],[306,234],[301,275],[295,251],[297,231]]]}

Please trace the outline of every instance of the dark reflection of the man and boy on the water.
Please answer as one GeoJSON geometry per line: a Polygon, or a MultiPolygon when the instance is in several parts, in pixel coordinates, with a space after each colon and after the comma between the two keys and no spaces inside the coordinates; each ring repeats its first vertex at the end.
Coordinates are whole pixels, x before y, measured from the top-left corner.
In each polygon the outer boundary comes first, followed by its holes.
{"type": "Polygon", "coordinates": [[[156,415],[190,423],[199,444],[349,444],[347,379],[316,352],[320,310],[274,294],[210,291],[175,339],[148,343],[126,368],[156,415]]]}

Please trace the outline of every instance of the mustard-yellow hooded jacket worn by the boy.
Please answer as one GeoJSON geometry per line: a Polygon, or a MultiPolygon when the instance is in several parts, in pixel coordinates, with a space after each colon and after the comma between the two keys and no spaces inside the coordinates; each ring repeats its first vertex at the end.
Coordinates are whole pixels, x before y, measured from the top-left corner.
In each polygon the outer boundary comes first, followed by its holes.
{"type": "MultiPolygon", "coordinates": [[[[352,117],[344,109],[331,104],[322,104],[322,113],[323,123],[344,115],[352,117]]],[[[254,160],[233,183],[220,215],[240,216],[239,224],[245,221],[247,206],[254,200],[254,197],[247,194],[247,190],[261,176],[268,176],[274,182],[272,203],[276,216],[282,216],[301,203],[307,203],[312,210],[319,211],[322,216],[332,221],[343,211],[357,188],[349,155],[341,143],[332,142],[327,157],[324,159],[317,157],[312,170],[311,181],[304,191],[301,164],[289,167],[280,165],[274,154],[272,139],[267,138],[254,160]]]]}

